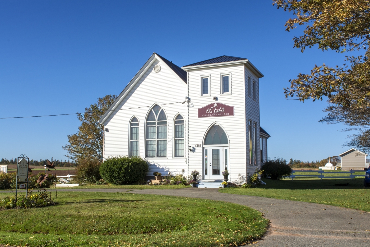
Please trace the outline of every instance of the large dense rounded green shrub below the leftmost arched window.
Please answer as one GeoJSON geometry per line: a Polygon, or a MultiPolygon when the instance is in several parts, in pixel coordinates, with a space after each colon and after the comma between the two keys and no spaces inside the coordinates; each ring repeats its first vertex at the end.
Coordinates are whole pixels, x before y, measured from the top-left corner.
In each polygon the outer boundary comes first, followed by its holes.
{"type": "Polygon", "coordinates": [[[118,156],[105,160],[100,166],[101,177],[111,184],[132,184],[144,180],[148,162],[141,157],[118,156]]]}

